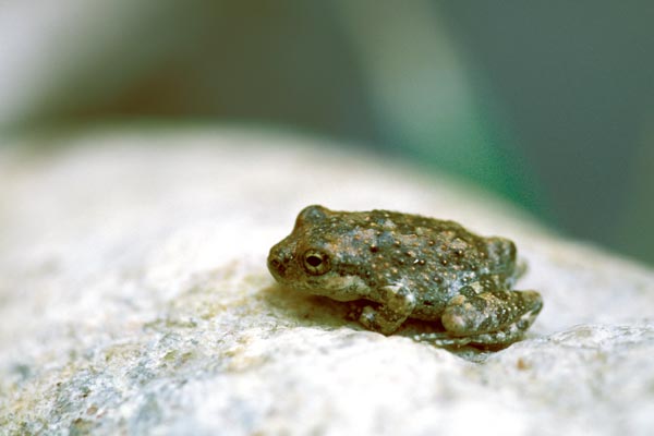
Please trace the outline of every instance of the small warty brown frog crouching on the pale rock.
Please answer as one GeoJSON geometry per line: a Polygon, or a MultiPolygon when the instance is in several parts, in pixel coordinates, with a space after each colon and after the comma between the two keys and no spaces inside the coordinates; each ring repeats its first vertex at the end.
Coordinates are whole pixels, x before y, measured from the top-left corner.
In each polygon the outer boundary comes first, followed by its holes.
{"type": "Polygon", "coordinates": [[[292,291],[363,301],[365,329],[388,336],[410,318],[434,322],[438,331],[414,339],[443,347],[507,347],[543,307],[538,292],[512,289],[525,267],[511,240],[421,215],[311,205],[267,266],[292,291]]]}

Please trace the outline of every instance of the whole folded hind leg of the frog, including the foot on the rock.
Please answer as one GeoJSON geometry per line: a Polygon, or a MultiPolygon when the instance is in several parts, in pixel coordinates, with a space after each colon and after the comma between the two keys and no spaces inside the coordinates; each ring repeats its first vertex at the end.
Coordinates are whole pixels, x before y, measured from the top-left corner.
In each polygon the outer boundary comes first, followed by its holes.
{"type": "MultiPolygon", "coordinates": [[[[535,291],[462,290],[441,316],[447,334],[434,343],[447,346],[508,346],[520,340],[543,308],[535,291]]],[[[428,340],[423,338],[421,340],[428,340]]]]}

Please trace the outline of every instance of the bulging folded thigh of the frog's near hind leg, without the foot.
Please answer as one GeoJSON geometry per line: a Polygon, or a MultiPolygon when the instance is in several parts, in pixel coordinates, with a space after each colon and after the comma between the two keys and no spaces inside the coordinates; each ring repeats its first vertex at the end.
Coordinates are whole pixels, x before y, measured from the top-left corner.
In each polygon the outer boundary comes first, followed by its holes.
{"type": "Polygon", "coordinates": [[[455,336],[507,330],[521,335],[542,307],[543,300],[535,291],[485,291],[477,294],[463,290],[448,302],[440,320],[455,336]]]}

